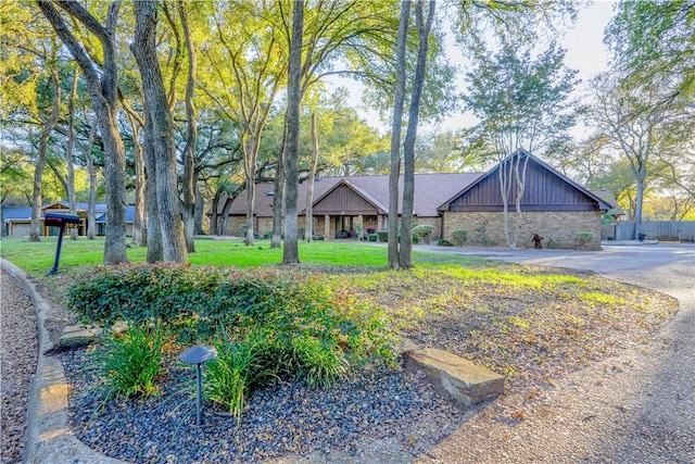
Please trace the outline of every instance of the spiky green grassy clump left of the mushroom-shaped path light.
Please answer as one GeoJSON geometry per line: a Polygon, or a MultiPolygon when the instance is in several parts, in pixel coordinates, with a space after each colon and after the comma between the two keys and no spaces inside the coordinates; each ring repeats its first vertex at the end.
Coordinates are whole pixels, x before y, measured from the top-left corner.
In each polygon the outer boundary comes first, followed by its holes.
{"type": "Polygon", "coordinates": [[[93,352],[104,377],[108,397],[149,397],[159,392],[164,336],[161,324],[153,328],[128,325],[122,336],[112,335],[93,352]]]}

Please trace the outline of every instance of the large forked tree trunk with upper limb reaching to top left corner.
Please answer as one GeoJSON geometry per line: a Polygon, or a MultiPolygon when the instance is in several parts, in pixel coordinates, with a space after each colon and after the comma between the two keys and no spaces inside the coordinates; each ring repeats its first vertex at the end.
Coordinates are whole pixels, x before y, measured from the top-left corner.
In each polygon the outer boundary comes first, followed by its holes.
{"type": "Polygon", "coordinates": [[[70,50],[79,65],[85,79],[91,105],[97,116],[105,151],[106,208],[109,227],[104,243],[104,264],[118,264],[126,258],[126,201],[125,201],[125,150],[118,133],[117,106],[117,67],[115,34],[118,21],[119,1],[109,4],[105,24],[90,14],[80,3],[74,1],[37,1],[46,18],[70,50]],[[90,47],[89,38],[78,40],[59,13],[58,5],[81,24],[101,47],[90,47]],[[87,50],[100,50],[100,57],[91,57],[87,50]]]}

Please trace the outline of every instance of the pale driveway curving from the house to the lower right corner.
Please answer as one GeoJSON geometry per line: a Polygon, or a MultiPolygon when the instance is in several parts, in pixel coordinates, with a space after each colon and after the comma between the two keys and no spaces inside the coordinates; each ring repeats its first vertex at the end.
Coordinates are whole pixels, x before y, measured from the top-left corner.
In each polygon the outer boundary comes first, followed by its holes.
{"type": "Polygon", "coordinates": [[[416,249],[589,271],[680,301],[678,315],[648,347],[558,385],[548,394],[551,413],[532,412],[490,442],[480,440],[484,425],[473,419],[421,461],[695,464],[695,244],[605,246],[597,252],[416,249]],[[476,436],[471,459],[465,448],[476,436]]]}

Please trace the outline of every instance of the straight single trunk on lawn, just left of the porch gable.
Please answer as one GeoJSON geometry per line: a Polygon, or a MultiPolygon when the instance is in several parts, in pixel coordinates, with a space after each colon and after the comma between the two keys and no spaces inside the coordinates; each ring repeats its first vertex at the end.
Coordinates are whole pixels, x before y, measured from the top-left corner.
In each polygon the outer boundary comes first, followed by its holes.
{"type": "Polygon", "coordinates": [[[292,10],[292,42],[287,101],[287,153],[285,156],[285,247],[282,264],[300,262],[298,243],[298,159],[300,139],[300,101],[302,100],[302,36],[304,34],[304,0],[295,0],[292,10]]]}

